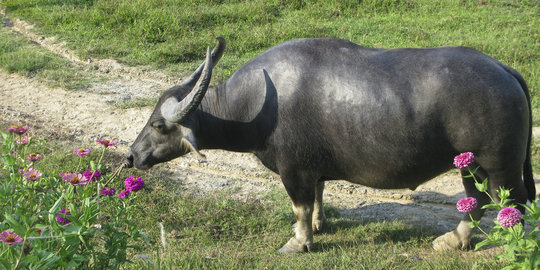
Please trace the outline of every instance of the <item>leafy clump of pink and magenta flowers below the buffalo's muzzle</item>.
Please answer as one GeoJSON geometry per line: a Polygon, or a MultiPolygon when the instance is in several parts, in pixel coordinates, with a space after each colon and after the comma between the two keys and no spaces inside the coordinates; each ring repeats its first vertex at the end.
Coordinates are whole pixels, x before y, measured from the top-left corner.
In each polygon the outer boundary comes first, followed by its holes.
{"type": "Polygon", "coordinates": [[[130,193],[144,188],[144,181],[136,176],[126,178],[122,183],[125,189],[120,194],[113,187],[100,189],[103,186],[100,182],[113,180],[113,176],[103,173],[107,168],[101,162],[106,149],[116,142],[97,140],[104,147],[100,147],[101,155],[96,160],[94,155],[88,156],[91,150],[87,147],[75,149],[73,153],[78,157],[72,155],[72,158],[75,157],[78,164],[69,162],[68,166],[76,167],[64,170],[59,178],[58,174],[54,177],[40,171],[42,165],[49,164],[37,163],[43,156],[32,151],[36,151],[33,150],[36,142],[44,141],[25,136],[29,127],[10,126],[6,130],[11,134],[1,132],[4,141],[0,142],[3,147],[0,166],[10,173],[0,179],[7,183],[0,189],[13,196],[0,198],[0,205],[9,205],[0,207],[0,216],[6,217],[0,222],[0,265],[58,269],[68,263],[86,269],[112,267],[113,260],[118,260],[116,268],[125,264],[127,250],[140,247],[133,240],[140,240],[144,235],[132,222],[135,207],[130,202],[134,196],[129,202],[117,196],[127,198],[130,193]],[[101,200],[96,194],[102,196],[101,200]],[[111,242],[117,244],[105,244],[111,242]],[[85,243],[100,246],[95,249],[85,243]]]}

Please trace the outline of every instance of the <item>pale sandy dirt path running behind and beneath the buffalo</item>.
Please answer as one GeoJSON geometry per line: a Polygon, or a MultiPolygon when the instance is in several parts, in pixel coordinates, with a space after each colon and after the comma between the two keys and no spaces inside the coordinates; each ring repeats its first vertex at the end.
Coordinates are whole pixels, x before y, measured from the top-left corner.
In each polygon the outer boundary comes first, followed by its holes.
{"type": "MultiPolygon", "coordinates": [[[[137,97],[155,97],[177,82],[158,72],[143,72],[114,60],[80,60],[54,38],[32,32],[22,21],[6,25],[78,66],[93,67],[108,80],[84,92],[49,88],[44,83],[0,71],[0,117],[5,123],[25,123],[35,129],[67,134],[92,144],[96,138],[118,140],[116,151],[125,153],[153,108],[118,109],[112,104],[137,97]]],[[[226,57],[226,55],[225,55],[226,57]]],[[[271,188],[283,188],[279,177],[251,154],[204,151],[206,161],[188,155],[158,166],[173,172],[179,185],[205,193],[229,190],[239,198],[262,197],[271,188]]],[[[537,181],[538,182],[538,181],[537,181]]],[[[540,190],[540,185],[537,184],[540,190]]],[[[461,218],[455,202],[464,196],[457,171],[446,173],[415,191],[377,190],[344,181],[326,184],[325,201],[347,216],[374,220],[400,219],[439,232],[453,229],[461,218]]],[[[485,217],[490,224],[493,213],[485,217]]]]}

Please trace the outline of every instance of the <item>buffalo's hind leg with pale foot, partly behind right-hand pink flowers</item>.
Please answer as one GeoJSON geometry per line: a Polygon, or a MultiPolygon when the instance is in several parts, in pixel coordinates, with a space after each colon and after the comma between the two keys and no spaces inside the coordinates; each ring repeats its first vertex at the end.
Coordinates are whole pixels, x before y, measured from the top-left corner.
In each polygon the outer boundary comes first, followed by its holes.
{"type": "MultiPolygon", "coordinates": [[[[471,167],[476,168],[476,167],[471,167]]],[[[482,209],[482,206],[490,202],[489,197],[476,189],[474,185],[474,180],[472,178],[465,178],[469,175],[469,171],[465,168],[461,170],[461,176],[463,181],[463,186],[465,187],[465,193],[467,197],[474,197],[478,201],[478,206],[470,212],[474,220],[479,220],[484,215],[485,209],[482,209]]],[[[478,182],[482,182],[487,174],[482,168],[479,168],[475,174],[478,182]]],[[[470,239],[472,235],[472,228],[469,226],[471,223],[471,218],[469,214],[465,214],[461,221],[459,222],[457,228],[451,232],[447,232],[433,241],[433,248],[436,251],[444,250],[456,250],[456,249],[465,249],[470,245],[470,239]]]]}

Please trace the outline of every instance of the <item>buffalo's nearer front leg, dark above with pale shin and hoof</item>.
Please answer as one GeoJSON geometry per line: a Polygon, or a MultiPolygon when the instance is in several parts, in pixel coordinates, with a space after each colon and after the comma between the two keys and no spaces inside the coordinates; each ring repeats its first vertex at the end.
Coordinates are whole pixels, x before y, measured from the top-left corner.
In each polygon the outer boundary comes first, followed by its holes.
{"type": "Polygon", "coordinates": [[[292,200],[296,217],[295,235],[280,250],[280,253],[308,252],[313,247],[313,204],[315,185],[307,174],[291,173],[281,175],[285,189],[292,200]]]}

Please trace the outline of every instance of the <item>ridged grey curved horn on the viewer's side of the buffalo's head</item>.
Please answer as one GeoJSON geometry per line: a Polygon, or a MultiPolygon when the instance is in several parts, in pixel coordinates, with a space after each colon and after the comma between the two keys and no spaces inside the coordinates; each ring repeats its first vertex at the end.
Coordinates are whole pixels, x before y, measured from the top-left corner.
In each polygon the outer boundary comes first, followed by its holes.
{"type": "Polygon", "coordinates": [[[173,123],[182,123],[193,111],[197,109],[197,107],[199,107],[199,104],[201,104],[204,94],[206,94],[206,90],[208,90],[210,79],[212,78],[212,56],[210,53],[210,48],[206,50],[205,63],[206,64],[204,65],[202,76],[197,81],[197,84],[193,90],[186,97],[184,97],[182,101],[178,102],[172,97],[166,100],[161,106],[161,112],[167,121],[173,123]],[[176,104],[173,105],[171,102],[176,104]],[[186,104],[187,102],[189,103],[186,104]],[[170,108],[173,108],[173,110],[170,108]]]}

